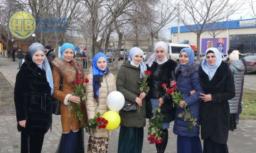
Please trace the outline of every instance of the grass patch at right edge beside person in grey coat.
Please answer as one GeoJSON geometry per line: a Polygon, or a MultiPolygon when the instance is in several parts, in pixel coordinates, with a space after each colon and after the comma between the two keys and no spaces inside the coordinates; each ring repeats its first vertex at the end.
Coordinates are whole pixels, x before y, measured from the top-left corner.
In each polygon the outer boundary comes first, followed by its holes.
{"type": "Polygon", "coordinates": [[[244,88],[240,119],[256,119],[256,90],[244,88]]]}

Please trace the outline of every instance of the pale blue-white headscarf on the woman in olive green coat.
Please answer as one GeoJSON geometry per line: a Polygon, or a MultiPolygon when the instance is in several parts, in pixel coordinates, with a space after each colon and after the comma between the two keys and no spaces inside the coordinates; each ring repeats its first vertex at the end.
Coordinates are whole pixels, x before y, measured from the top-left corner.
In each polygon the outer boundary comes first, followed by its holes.
{"type": "MultiPolygon", "coordinates": [[[[144,54],[143,51],[138,47],[131,48],[130,51],[129,51],[128,61],[131,62],[133,57],[138,53],[140,53],[142,55],[144,54]]],[[[140,78],[145,77],[145,72],[144,71],[146,71],[146,70],[147,70],[147,67],[146,67],[145,63],[143,61],[140,62],[140,78]]]]}

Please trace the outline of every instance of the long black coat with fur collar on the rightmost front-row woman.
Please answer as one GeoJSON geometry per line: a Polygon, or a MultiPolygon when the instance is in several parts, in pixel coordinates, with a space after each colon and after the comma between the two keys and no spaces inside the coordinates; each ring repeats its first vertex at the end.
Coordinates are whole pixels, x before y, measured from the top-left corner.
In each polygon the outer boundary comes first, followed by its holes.
{"type": "Polygon", "coordinates": [[[210,137],[214,142],[226,144],[230,128],[228,100],[235,96],[233,74],[225,62],[221,62],[211,80],[202,67],[199,68],[198,73],[205,94],[212,96],[212,101],[201,102],[201,139],[210,137]]]}

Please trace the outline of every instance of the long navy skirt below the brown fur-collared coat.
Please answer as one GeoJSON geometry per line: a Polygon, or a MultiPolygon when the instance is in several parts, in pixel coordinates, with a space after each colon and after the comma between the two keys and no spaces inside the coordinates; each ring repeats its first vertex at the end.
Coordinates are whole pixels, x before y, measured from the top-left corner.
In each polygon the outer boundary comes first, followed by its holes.
{"type": "Polygon", "coordinates": [[[84,130],[62,133],[56,153],[84,153],[84,130]]]}

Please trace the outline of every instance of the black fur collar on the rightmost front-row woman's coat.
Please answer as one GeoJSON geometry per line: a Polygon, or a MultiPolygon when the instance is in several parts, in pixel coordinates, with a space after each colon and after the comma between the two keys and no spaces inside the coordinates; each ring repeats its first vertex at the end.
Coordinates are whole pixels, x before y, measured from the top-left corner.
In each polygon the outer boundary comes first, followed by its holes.
{"type": "Polygon", "coordinates": [[[201,86],[204,90],[216,90],[223,84],[224,80],[230,74],[230,69],[227,63],[221,62],[221,65],[217,68],[212,80],[209,81],[208,75],[203,71],[202,67],[198,70],[201,86]]]}

